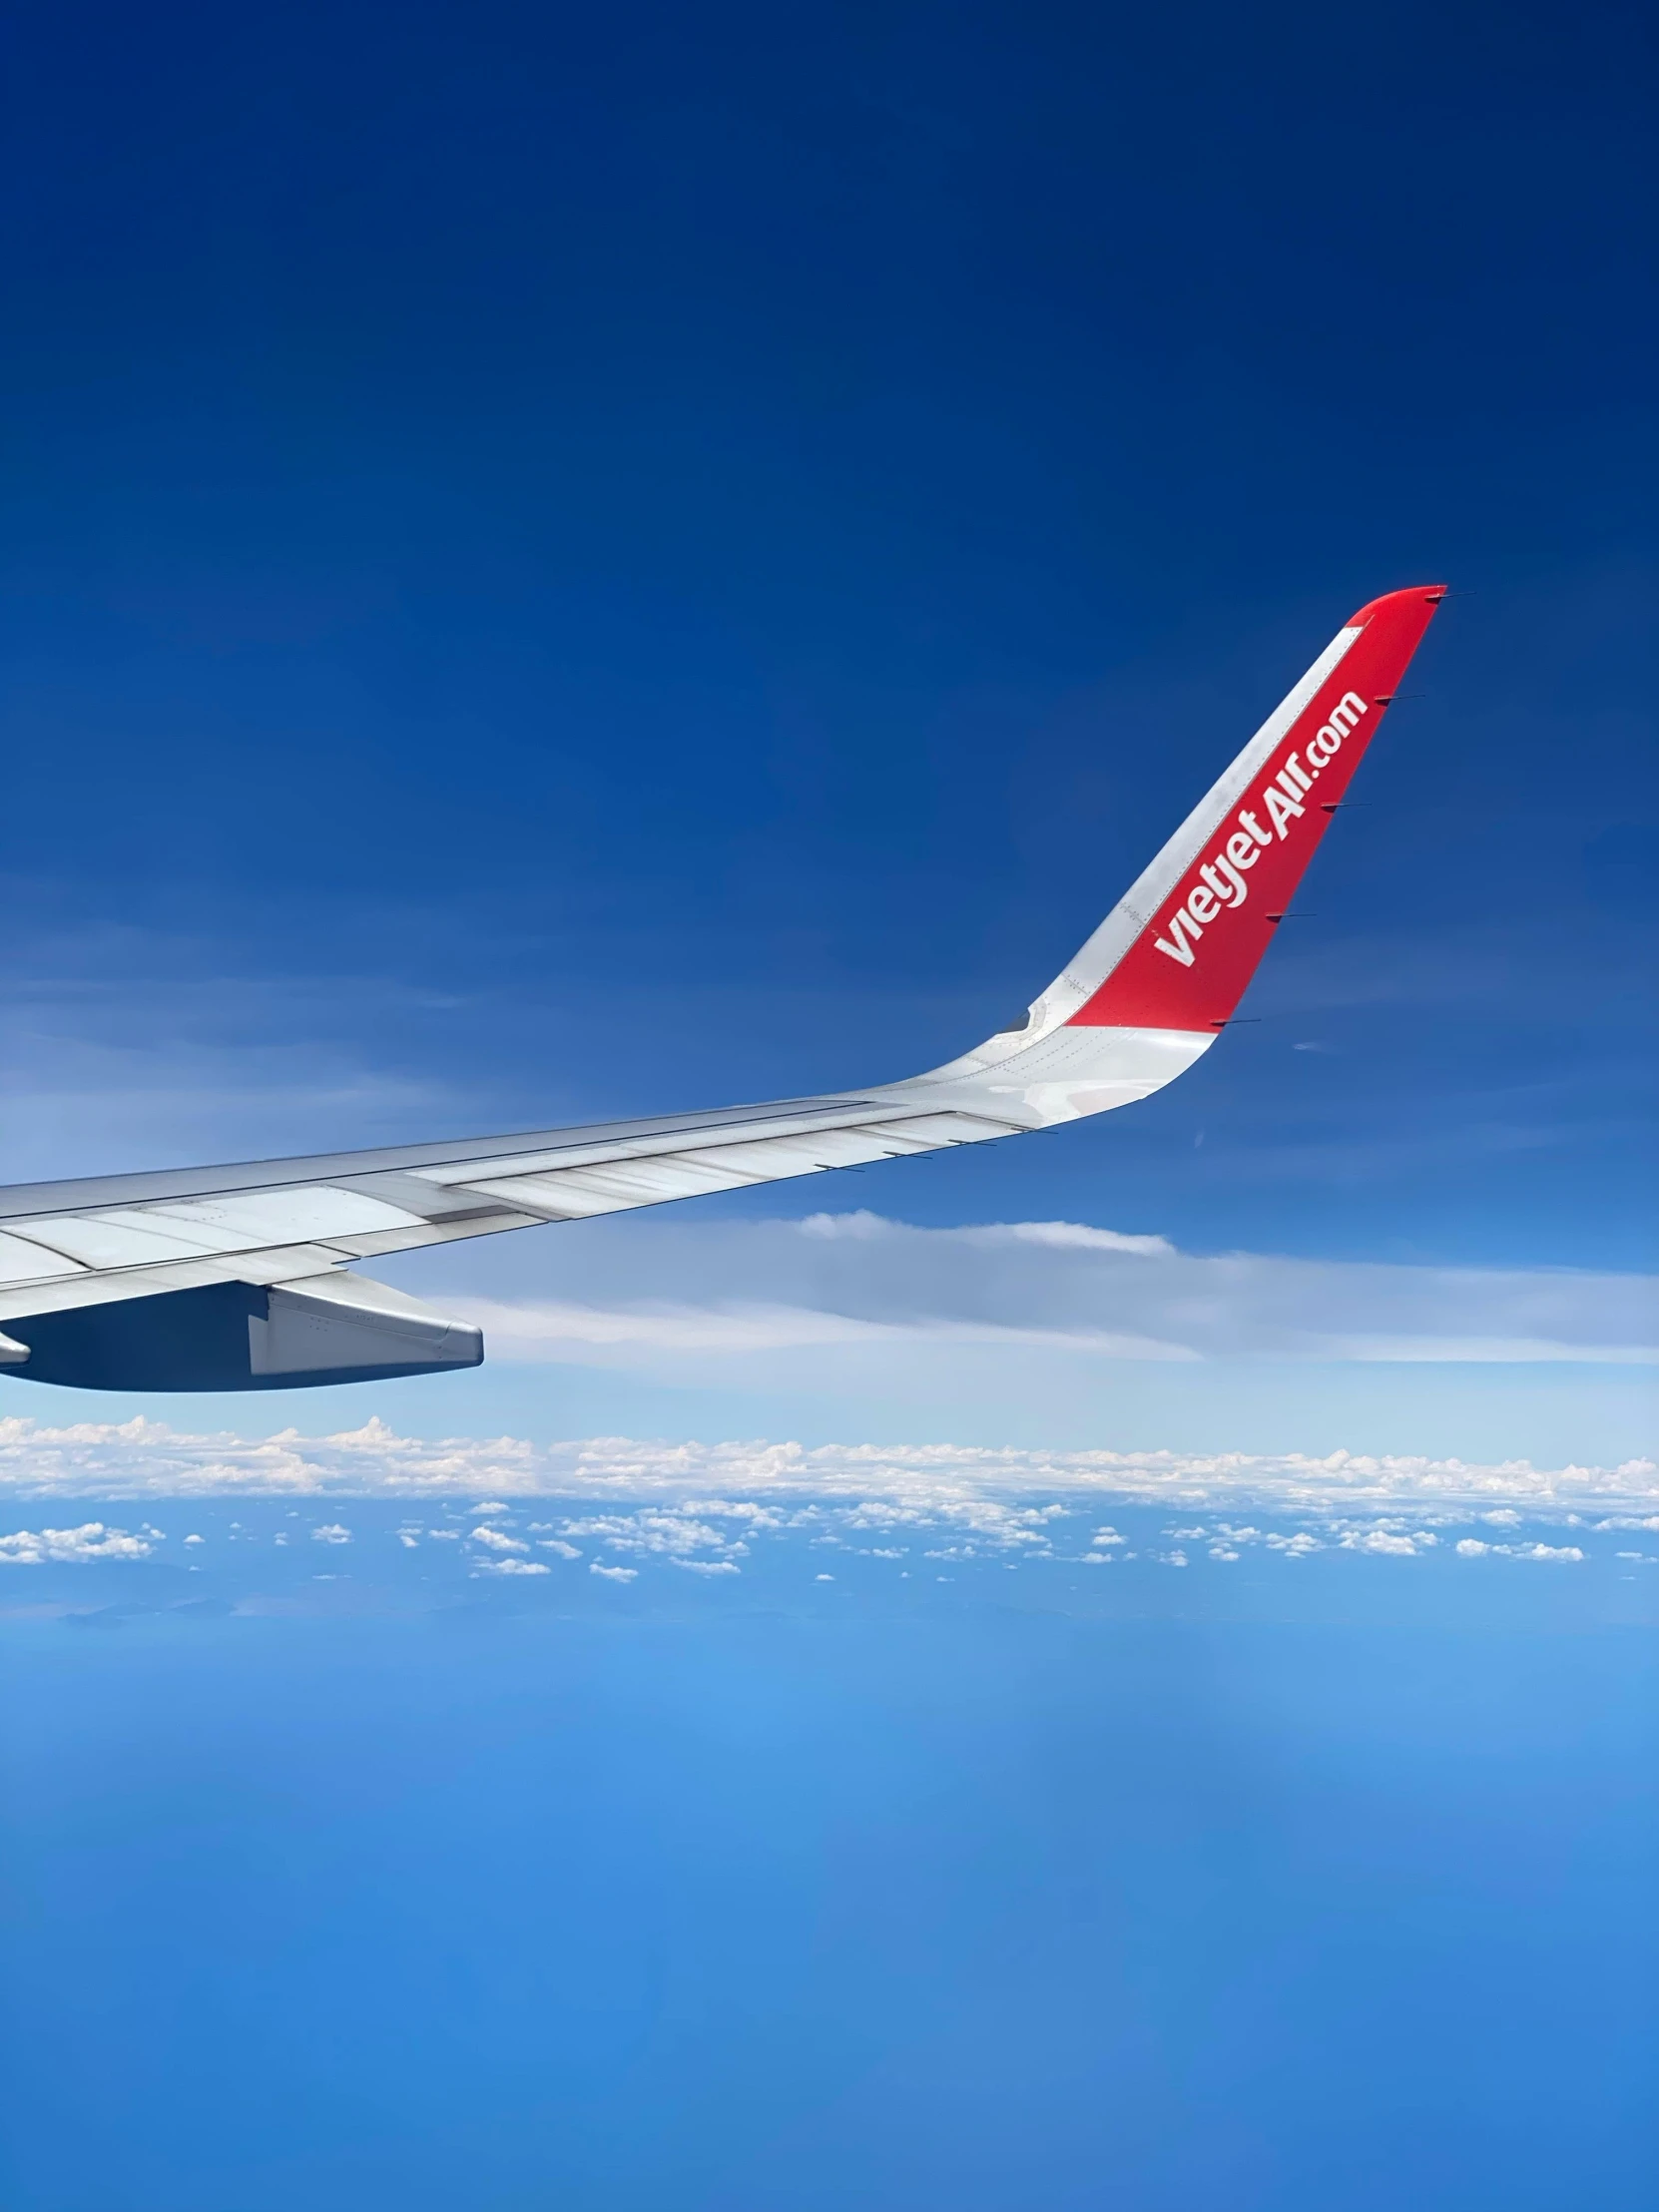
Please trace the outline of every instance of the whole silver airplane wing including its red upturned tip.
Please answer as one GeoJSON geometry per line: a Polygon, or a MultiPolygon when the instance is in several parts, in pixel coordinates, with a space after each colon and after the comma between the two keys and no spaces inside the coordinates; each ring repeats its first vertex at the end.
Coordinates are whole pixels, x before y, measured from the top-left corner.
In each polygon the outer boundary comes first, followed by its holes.
{"type": "Polygon", "coordinates": [[[832,1097],[0,1188],[0,1363],[84,1389],[292,1389],[476,1367],[352,1261],[987,1144],[1161,1091],[1232,1018],[1444,586],[1363,606],[1026,1013],[832,1097]]]}

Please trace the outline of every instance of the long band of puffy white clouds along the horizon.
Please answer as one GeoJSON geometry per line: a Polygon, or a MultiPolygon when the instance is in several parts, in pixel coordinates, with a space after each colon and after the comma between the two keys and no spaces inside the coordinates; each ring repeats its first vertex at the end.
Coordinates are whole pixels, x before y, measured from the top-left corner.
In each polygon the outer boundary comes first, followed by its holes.
{"type": "MultiPolygon", "coordinates": [[[[889,1537],[947,1515],[982,1548],[1046,1542],[1044,1511],[1060,1498],[1084,1509],[1152,1504],[1177,1513],[1274,1511],[1327,1520],[1343,1513],[1462,1509],[1491,1526],[1509,1515],[1595,1515],[1599,1528],[1659,1528],[1659,1464],[1540,1469],[1528,1460],[1332,1451],[1029,1451],[975,1444],[653,1442],[597,1436],[555,1444],[524,1438],[409,1438],[383,1420],[332,1436],[283,1429],[270,1438],[195,1436],[164,1422],[51,1427],[0,1420],[0,1493],[13,1498],[312,1495],[566,1500],[611,1509],[655,1504],[670,1517],[630,1531],[637,1548],[719,1553],[779,1526],[814,1500],[856,1517],[843,1533],[889,1537]],[[1037,1500],[1037,1502],[1033,1502],[1037,1500]],[[1493,1515],[1506,1515],[1493,1522],[1493,1515]],[[692,1526],[695,1524],[695,1531],[692,1526]]],[[[564,1542],[617,1533],[588,1511],[549,1526],[564,1542]]],[[[341,1524],[327,1524],[338,1528],[341,1524]]],[[[1219,1528],[1203,1524],[1210,1533],[1219,1528]]],[[[1232,1522],[1228,1522],[1232,1526],[1232,1522]]],[[[323,1542],[343,1542],[349,1531],[323,1542]]],[[[460,1542],[427,1528],[422,1542],[460,1542]]],[[[1186,1528],[1175,1542],[1201,1540],[1186,1528]]],[[[186,1540],[188,1542],[188,1540],[186,1540]]],[[[197,1542],[201,1542],[197,1537],[197,1542]]]]}

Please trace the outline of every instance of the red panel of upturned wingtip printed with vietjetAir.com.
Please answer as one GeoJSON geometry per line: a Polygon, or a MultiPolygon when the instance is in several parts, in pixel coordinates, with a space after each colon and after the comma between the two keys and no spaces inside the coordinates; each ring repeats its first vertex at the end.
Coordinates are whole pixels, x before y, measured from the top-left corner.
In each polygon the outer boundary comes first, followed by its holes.
{"type": "Polygon", "coordinates": [[[1360,635],[1237,803],[1223,799],[1175,889],[1073,1026],[1228,1022],[1444,595],[1444,584],[1389,591],[1349,617],[1345,630],[1360,635]]]}

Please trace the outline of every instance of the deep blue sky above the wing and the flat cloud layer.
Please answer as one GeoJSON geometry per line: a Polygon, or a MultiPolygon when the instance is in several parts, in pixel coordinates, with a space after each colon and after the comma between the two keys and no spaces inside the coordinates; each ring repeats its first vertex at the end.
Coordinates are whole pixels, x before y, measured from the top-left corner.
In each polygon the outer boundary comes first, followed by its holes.
{"type": "Polygon", "coordinates": [[[931,1064],[1449,577],[1261,1026],[880,1203],[1648,1263],[1650,86],[1619,7],[33,11],[15,1175],[931,1064]]]}

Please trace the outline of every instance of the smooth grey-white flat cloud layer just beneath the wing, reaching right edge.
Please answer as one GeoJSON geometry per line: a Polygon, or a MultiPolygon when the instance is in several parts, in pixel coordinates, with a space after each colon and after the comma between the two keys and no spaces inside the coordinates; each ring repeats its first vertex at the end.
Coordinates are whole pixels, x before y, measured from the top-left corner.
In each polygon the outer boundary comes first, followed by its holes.
{"type": "MultiPolygon", "coordinates": [[[[801,1352],[945,1374],[1031,1352],[1102,1360],[1646,1367],[1659,1283],[1639,1274],[1194,1254],[1082,1221],[914,1228],[872,1212],[635,1228],[566,1294],[456,1298],[495,1358],[684,1378],[801,1352]],[[639,1283],[650,1296],[639,1296],[639,1283]]],[[[500,1279],[500,1276],[498,1276],[500,1279]]],[[[560,1261],[542,1267],[560,1281],[560,1261]]]]}

